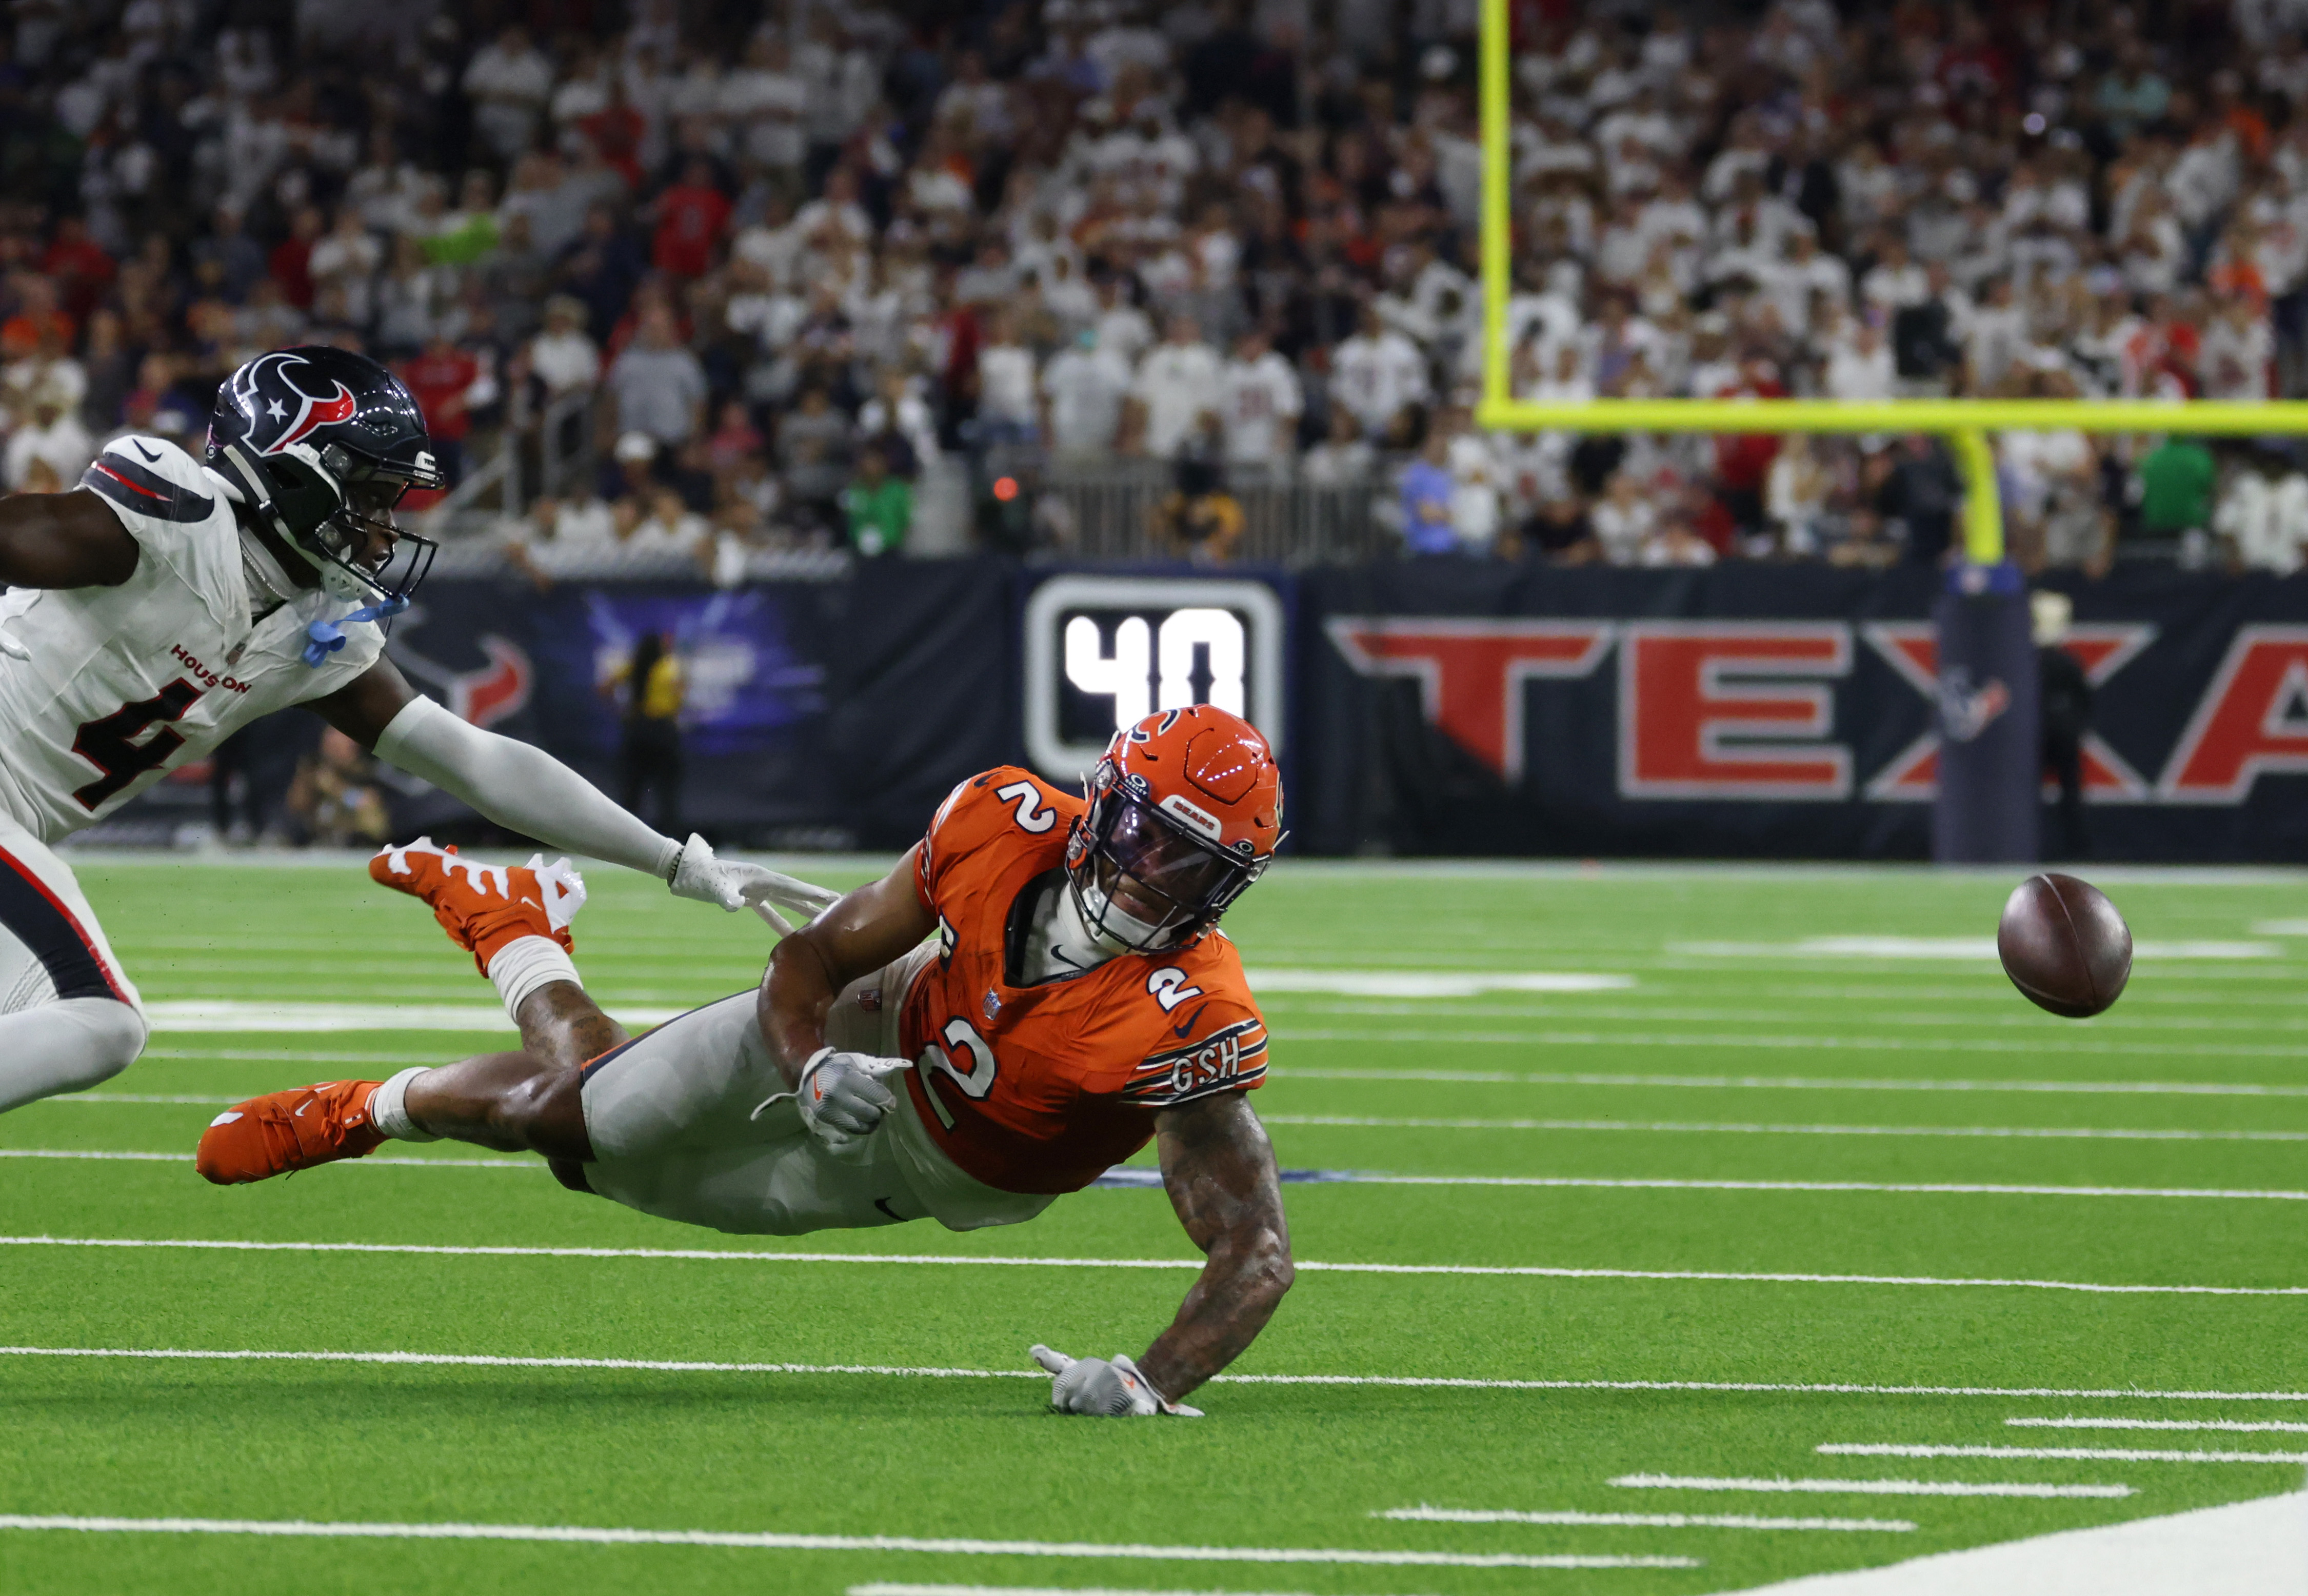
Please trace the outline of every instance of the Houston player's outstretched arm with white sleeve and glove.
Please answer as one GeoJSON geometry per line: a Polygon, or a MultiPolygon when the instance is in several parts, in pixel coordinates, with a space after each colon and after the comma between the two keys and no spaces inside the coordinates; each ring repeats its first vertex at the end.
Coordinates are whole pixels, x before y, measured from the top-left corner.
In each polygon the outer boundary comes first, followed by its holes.
{"type": "MultiPolygon", "coordinates": [[[[658,876],[676,897],[722,909],[775,904],[808,918],[833,893],[775,869],[713,858],[704,837],[660,837],[637,814],[565,763],[515,738],[471,727],[418,694],[390,660],[379,660],[314,710],[390,766],[420,775],[499,826],[538,842],[658,876]]],[[[775,911],[764,911],[764,918],[775,911]]],[[[785,927],[778,920],[780,929],[785,927]]]]}

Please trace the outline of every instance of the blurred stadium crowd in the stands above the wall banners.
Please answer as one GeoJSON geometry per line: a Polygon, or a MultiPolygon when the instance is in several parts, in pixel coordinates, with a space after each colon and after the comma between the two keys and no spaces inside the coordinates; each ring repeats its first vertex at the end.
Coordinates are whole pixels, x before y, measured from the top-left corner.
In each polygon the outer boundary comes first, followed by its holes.
{"type": "MultiPolygon", "coordinates": [[[[397,362],[556,549],[905,547],[932,470],[1366,491],[1412,554],[1936,560],[1927,438],[1473,429],[1466,0],[14,0],[12,489],[198,441],[305,339],[397,362]],[[595,399],[598,394],[598,399],[595,399]],[[600,441],[598,482],[545,459],[600,441]],[[478,457],[480,450],[473,447],[478,457]],[[565,491],[563,491],[565,489],[565,491]]],[[[2308,385],[2296,0],[1514,9],[1514,390],[2308,385]]],[[[2015,434],[2031,565],[2292,570],[2308,475],[2015,434]]],[[[1011,521],[992,521],[1011,526],[1011,521]]],[[[1013,537],[1062,537],[1059,517],[1013,537]]]]}

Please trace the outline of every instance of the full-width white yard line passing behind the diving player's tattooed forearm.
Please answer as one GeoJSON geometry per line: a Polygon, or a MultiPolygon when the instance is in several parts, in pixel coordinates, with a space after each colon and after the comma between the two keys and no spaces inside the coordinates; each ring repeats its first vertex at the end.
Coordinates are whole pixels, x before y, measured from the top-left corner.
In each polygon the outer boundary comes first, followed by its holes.
{"type": "MultiPolygon", "coordinates": [[[[189,1241],[132,1236],[0,1236],[0,1248],[173,1248],[189,1252],[385,1252],[402,1257],[644,1257],[706,1264],[937,1264],[992,1268],[1202,1268],[1191,1257],[949,1257],[939,1252],[755,1252],[748,1248],[455,1248],[411,1241],[189,1241]]],[[[1724,1280],[1736,1285],[1923,1285],[2086,1292],[2093,1296],[2308,1296],[2308,1285],[2100,1285],[1966,1275],[1821,1275],[1729,1268],[1560,1268],[1546,1264],[1316,1264],[1334,1275],[1519,1275],[1533,1280],[1724,1280]]]]}

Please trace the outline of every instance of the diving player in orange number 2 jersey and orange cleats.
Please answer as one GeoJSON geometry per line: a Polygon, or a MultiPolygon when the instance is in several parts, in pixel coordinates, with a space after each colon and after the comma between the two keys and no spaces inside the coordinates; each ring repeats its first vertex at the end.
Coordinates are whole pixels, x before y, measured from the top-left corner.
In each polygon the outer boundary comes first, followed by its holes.
{"type": "MultiPolygon", "coordinates": [[[[1244,1096],[1267,1033],[1214,929],[1279,840],[1265,738],[1209,706],[1163,710],[1115,733],[1087,805],[1016,768],[956,786],[889,876],[778,943],[759,992],[628,1040],[572,969],[508,994],[522,1052],[254,1098],[201,1137],[201,1174],[455,1137],[725,1232],[976,1229],[1034,1218],[1152,1137],[1209,1257],[1200,1280],[1136,1363],[1034,1356],[1064,1411],[1191,1411],[1177,1398],[1290,1287],[1274,1151],[1244,1096]]],[[[556,867],[422,846],[372,874],[434,904],[475,959],[559,953],[582,899],[556,867]]]]}

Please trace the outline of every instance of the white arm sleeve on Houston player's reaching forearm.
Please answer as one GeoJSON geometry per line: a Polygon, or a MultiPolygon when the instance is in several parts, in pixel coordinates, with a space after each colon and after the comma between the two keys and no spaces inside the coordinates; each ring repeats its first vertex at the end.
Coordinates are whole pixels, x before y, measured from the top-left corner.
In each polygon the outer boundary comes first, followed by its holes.
{"type": "Polygon", "coordinates": [[[540,747],[450,715],[418,697],[376,738],[376,756],[420,775],[499,826],[669,881],[681,844],[660,837],[540,747]]]}

